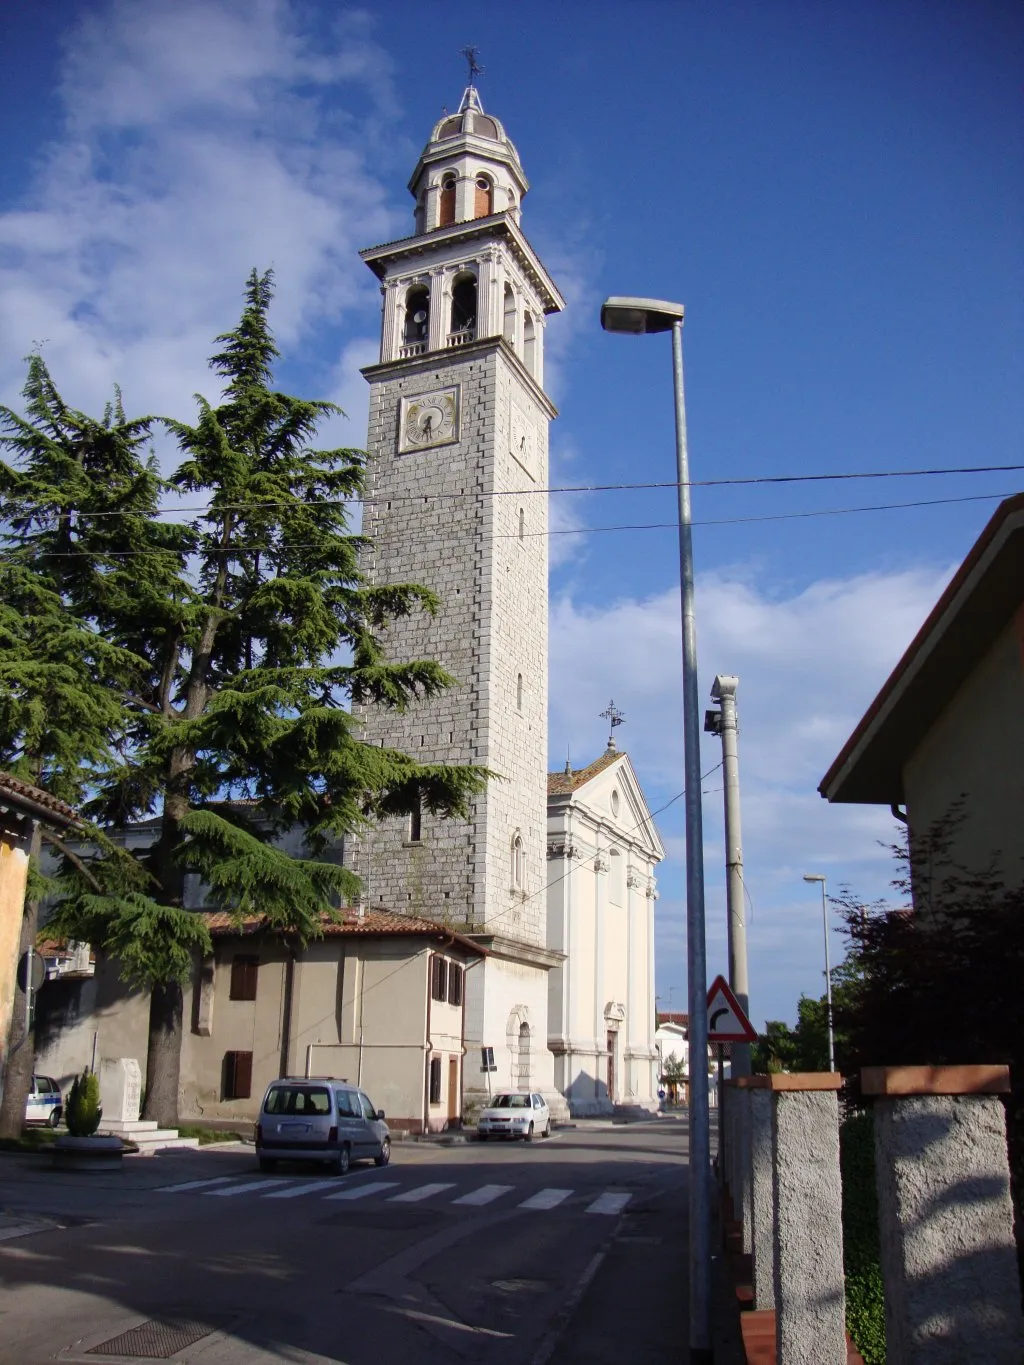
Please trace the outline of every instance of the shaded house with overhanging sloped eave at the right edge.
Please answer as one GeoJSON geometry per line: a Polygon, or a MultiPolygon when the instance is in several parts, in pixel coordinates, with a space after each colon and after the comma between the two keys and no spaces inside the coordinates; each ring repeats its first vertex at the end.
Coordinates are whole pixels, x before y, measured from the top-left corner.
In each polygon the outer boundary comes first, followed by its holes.
{"type": "Polygon", "coordinates": [[[1024,494],[997,508],[818,790],[889,805],[919,849],[950,822],[954,864],[1024,882],[1024,494]]]}

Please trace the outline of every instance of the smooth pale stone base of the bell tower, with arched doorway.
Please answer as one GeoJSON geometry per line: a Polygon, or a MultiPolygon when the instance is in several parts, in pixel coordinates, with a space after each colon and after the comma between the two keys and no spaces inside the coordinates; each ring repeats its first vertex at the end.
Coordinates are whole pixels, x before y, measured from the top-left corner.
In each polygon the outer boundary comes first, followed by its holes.
{"type": "Polygon", "coordinates": [[[569,1106],[556,1085],[547,1048],[547,973],[561,954],[492,935],[471,936],[490,956],[466,973],[463,1122],[472,1125],[498,1091],[537,1091],[554,1122],[564,1122],[569,1106]],[[485,1069],[485,1050],[487,1059],[493,1055],[493,1072],[485,1069]]]}

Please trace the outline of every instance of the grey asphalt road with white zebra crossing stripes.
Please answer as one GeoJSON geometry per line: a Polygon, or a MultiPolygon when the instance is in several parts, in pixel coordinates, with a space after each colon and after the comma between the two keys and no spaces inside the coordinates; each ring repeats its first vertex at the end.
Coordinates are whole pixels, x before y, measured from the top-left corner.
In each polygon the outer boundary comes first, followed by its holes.
{"type": "Polygon", "coordinates": [[[261,1175],[251,1148],[101,1175],[0,1155],[0,1361],[557,1365],[601,1268],[677,1204],[672,1119],[547,1141],[395,1144],[385,1170],[261,1175]],[[127,1334],[127,1335],[126,1335],[127,1334]]]}

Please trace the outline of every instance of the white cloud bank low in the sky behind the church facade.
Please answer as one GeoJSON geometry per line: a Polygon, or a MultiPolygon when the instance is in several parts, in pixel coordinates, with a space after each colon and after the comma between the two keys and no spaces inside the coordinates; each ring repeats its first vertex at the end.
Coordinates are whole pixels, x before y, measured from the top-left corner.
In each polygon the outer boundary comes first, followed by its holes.
{"type": "MultiPolygon", "coordinates": [[[[916,568],[826,579],[771,592],[747,568],[698,580],[700,704],[711,706],[715,673],[740,678],[743,846],[750,908],[750,964],[756,1022],[792,1017],[800,991],[822,987],[822,927],[816,887],[849,882],[868,898],[883,894],[897,835],[885,808],[833,807],[816,786],[949,577],[916,568]]],[[[627,713],[618,730],[657,808],[683,789],[681,647],[679,592],[608,607],[571,594],[552,603],[552,766],[571,747],[575,766],[599,752],[597,719],[609,696],[627,713]]],[[[721,762],[703,736],[702,771],[721,762]]],[[[721,774],[703,784],[709,972],[724,971],[725,891],[721,774]]],[[[658,819],[668,846],[658,906],[658,990],[684,999],[683,801],[658,819]]],[[[833,945],[838,957],[841,943],[833,945]]]]}

